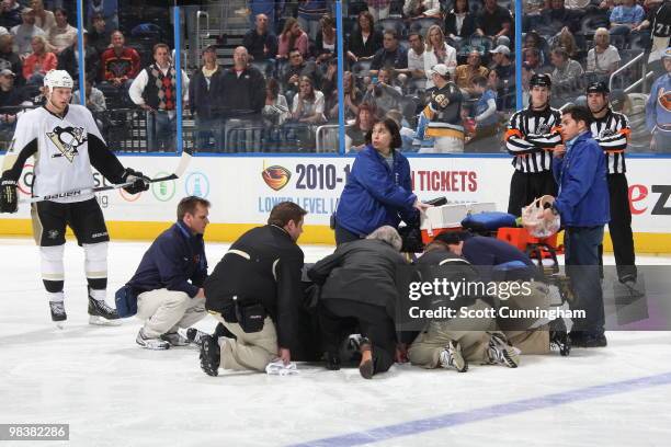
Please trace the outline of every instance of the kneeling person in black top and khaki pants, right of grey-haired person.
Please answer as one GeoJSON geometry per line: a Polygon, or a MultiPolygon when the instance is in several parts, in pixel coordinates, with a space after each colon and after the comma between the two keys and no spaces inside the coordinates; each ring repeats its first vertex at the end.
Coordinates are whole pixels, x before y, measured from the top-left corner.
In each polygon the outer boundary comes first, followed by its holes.
{"type": "MultiPolygon", "coordinates": [[[[450,251],[447,244],[434,240],[424,249],[418,261],[423,282],[446,279],[453,283],[480,280],[478,271],[470,263],[450,251]],[[440,266],[439,270],[431,268],[440,266]]],[[[432,306],[450,307],[459,311],[467,308],[485,312],[492,306],[486,297],[462,294],[455,299],[431,300],[432,306]]],[[[417,336],[408,349],[408,359],[422,368],[468,370],[468,362],[498,364],[516,368],[520,354],[503,333],[496,330],[493,318],[453,318],[432,320],[417,336]]]]}

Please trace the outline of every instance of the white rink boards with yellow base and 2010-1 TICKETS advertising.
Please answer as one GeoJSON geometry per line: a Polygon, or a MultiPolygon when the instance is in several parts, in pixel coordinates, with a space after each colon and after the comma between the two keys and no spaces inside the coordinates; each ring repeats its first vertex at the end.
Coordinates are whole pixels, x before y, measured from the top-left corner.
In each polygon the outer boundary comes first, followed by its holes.
{"type": "MultiPolygon", "coordinates": [[[[454,202],[493,202],[508,208],[512,167],[509,157],[410,157],[413,191],[422,199],[445,196],[454,202]]],[[[299,204],[306,217],[305,243],[332,243],[330,215],[352,169],[352,157],[195,157],[185,174],[155,183],[138,195],[122,190],[98,198],[115,239],[152,239],[175,219],[185,195],[212,202],[207,239],[231,241],[242,231],[262,224],[278,202],[299,204]]],[[[122,163],[156,177],[171,173],[172,156],[123,157],[122,163]]],[[[633,229],[639,252],[671,252],[671,159],[627,159],[633,229]]],[[[20,197],[29,197],[33,181],[29,160],[20,181],[20,197]]],[[[95,185],[106,184],[94,173],[95,185]]],[[[61,193],[61,192],[54,192],[61,193]]],[[[0,236],[31,234],[30,209],[0,215],[0,236]]],[[[610,239],[606,238],[606,249],[610,239]]]]}

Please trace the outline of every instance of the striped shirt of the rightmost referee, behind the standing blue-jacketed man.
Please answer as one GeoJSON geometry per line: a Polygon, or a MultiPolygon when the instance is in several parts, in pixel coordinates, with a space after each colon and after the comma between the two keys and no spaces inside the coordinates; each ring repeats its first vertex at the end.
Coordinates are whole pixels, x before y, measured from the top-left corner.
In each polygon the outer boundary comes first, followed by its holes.
{"type": "Polygon", "coordinates": [[[624,151],[632,129],[629,121],[622,113],[609,110],[603,118],[594,118],[590,126],[592,137],[599,142],[606,156],[609,174],[627,172],[624,151]]]}

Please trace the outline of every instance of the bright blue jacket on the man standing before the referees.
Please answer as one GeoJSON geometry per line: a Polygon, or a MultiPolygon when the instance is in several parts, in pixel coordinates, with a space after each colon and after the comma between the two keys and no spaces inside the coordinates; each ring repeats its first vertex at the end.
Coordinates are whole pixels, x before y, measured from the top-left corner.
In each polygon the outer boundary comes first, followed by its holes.
{"type": "Polygon", "coordinates": [[[553,159],[559,185],[555,207],[565,227],[596,227],[611,220],[606,160],[589,131],[566,144],[564,158],[553,159]]]}

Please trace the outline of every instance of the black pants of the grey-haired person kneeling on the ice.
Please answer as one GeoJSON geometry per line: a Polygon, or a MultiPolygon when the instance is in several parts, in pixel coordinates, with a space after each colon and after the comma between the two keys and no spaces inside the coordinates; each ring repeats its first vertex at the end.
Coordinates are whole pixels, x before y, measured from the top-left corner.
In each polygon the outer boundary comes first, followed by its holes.
{"type": "Polygon", "coordinates": [[[319,325],[326,352],[337,354],[348,332],[343,329],[359,325],[373,345],[374,373],[385,373],[394,365],[396,329],[385,308],[350,299],[323,299],[319,302],[319,325]]]}

